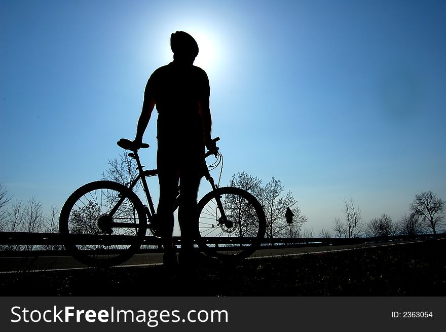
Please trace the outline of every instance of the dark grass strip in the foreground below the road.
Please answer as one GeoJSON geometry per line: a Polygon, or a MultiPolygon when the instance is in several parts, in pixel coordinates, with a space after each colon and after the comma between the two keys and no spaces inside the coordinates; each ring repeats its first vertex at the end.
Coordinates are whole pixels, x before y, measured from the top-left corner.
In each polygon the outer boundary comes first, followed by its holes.
{"type": "Polygon", "coordinates": [[[0,275],[2,296],[445,296],[446,240],[245,260],[0,275]]]}

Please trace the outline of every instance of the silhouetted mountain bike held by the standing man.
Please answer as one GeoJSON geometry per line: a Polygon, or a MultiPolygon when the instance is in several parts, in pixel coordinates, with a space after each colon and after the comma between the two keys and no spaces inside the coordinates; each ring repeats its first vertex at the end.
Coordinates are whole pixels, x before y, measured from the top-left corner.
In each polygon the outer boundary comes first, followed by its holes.
{"type": "MultiPolygon", "coordinates": [[[[214,139],[215,142],[218,140],[218,137],[214,139]]],[[[60,212],[59,232],[64,246],[75,259],[87,266],[116,266],[130,259],[144,242],[147,229],[154,229],[157,217],[146,178],[157,176],[158,170],[143,170],[138,155],[140,148],[149,145],[135,146],[133,141],[124,138],[117,144],[131,151],[128,156],[136,161],[139,171],[136,178],[126,186],[109,180],[87,183],[68,197],[60,212]],[[139,181],[146,205],[133,191],[139,181]]],[[[212,154],[207,152],[205,159],[212,154]]],[[[222,163],[218,148],[215,157],[214,168],[222,163]]],[[[209,167],[204,167],[203,176],[210,183],[211,191],[198,202],[199,234],[196,244],[206,255],[222,261],[244,259],[258,248],[264,238],[265,212],[247,191],[215,185],[209,167]]],[[[175,210],[178,201],[179,193],[175,210]]]]}

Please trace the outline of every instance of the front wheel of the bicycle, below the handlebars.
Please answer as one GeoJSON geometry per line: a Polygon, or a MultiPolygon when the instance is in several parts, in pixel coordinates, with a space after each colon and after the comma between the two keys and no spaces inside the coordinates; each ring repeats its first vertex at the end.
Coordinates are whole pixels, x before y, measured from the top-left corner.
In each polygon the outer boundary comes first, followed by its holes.
{"type": "Polygon", "coordinates": [[[198,212],[199,246],[220,260],[248,257],[265,236],[263,207],[245,190],[218,188],[198,202],[198,212]]]}

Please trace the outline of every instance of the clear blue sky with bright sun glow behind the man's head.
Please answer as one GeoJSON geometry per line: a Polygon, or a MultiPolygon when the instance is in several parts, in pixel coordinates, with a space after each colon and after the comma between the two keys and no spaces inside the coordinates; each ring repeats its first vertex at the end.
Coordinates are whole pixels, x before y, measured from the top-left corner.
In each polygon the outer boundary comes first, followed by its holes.
{"type": "MultiPolygon", "coordinates": [[[[446,199],[446,3],[317,0],[1,0],[0,182],[15,198],[60,208],[101,177],[176,30],[201,49],[222,183],[275,176],[315,234],[350,197],[365,222],[421,191],[446,199]]],[[[155,136],[152,121],[147,167],[155,136]]]]}

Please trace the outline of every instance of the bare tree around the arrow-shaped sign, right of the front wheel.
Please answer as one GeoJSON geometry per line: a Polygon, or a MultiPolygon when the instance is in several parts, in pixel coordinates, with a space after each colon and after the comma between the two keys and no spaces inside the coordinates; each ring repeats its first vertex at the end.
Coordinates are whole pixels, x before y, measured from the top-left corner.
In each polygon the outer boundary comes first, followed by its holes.
{"type": "Polygon", "coordinates": [[[283,194],[284,187],[280,180],[273,177],[262,189],[262,196],[259,199],[266,215],[267,234],[269,238],[280,237],[287,232],[285,212],[289,207],[294,214],[294,232],[300,234],[302,226],[307,222],[307,216],[302,214],[298,206],[298,201],[294,199],[292,193],[288,191],[283,194]]]}

